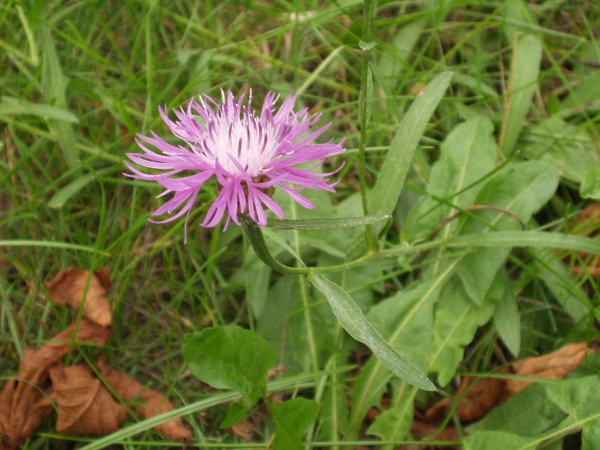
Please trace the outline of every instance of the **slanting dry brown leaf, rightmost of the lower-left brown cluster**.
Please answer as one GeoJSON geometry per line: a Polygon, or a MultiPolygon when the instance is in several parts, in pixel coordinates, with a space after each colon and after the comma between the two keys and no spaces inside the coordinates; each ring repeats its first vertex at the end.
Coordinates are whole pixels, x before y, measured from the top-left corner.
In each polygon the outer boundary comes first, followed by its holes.
{"type": "MultiPolygon", "coordinates": [[[[164,395],[152,389],[146,389],[124,373],[117,372],[107,365],[103,358],[98,360],[97,367],[102,377],[119,397],[127,402],[135,398],[136,401],[146,404],[145,407],[135,408],[140,417],[148,419],[174,409],[173,404],[164,395]]],[[[183,425],[180,417],[160,424],[154,427],[154,430],[172,441],[189,442],[192,438],[192,433],[183,425]]]]}

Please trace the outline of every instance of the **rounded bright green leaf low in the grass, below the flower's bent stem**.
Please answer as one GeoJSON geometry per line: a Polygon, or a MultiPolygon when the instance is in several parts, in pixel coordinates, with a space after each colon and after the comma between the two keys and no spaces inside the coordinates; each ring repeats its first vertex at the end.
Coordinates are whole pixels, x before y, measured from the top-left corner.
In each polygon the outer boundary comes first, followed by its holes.
{"type": "Polygon", "coordinates": [[[258,334],[240,327],[207,328],[187,334],[181,349],[192,374],[219,389],[233,389],[247,405],[266,392],[276,353],[258,334]]]}

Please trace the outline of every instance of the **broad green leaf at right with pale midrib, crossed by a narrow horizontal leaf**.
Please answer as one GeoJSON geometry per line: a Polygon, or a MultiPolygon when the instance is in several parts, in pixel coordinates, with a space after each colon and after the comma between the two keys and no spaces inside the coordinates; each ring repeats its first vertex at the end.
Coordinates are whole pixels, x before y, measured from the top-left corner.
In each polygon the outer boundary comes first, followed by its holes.
{"type": "MultiPolygon", "coordinates": [[[[492,177],[477,195],[475,203],[510,211],[527,223],[533,213],[539,211],[554,195],[557,186],[558,173],[550,163],[515,163],[492,177]]],[[[473,215],[479,220],[474,217],[466,218],[461,234],[474,236],[477,233],[494,234],[491,229],[521,228],[514,217],[500,211],[481,210],[473,212],[473,215]]],[[[481,304],[509,253],[508,246],[504,249],[484,248],[462,258],[456,270],[474,302],[481,304]]]]}

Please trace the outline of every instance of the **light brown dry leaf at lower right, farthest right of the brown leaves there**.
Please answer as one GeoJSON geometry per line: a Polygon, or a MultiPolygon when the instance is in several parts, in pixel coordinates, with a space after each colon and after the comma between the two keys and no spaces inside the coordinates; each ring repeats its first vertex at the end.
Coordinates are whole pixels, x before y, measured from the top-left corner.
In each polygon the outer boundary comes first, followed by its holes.
{"type": "MultiPolygon", "coordinates": [[[[512,364],[516,375],[562,379],[579,367],[585,357],[587,344],[567,344],[555,352],[534,358],[526,358],[512,364]]],[[[511,379],[506,382],[506,389],[510,395],[525,389],[533,381],[511,379]]]]}

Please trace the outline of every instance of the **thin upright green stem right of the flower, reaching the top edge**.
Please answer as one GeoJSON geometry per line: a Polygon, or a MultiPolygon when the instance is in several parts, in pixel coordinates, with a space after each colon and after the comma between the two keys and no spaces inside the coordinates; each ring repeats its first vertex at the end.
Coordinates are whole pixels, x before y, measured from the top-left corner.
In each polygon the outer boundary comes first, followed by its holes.
{"type": "MultiPolygon", "coordinates": [[[[371,38],[371,12],[372,0],[364,0],[363,3],[363,32],[362,40],[368,43],[371,38]]],[[[369,96],[369,50],[363,49],[361,58],[361,82],[360,82],[360,143],[358,146],[358,181],[360,183],[360,196],[363,205],[363,214],[369,215],[369,204],[367,199],[367,185],[365,182],[365,148],[367,142],[367,124],[369,121],[368,105],[371,101],[369,96]]],[[[369,253],[377,251],[377,245],[373,236],[371,225],[366,226],[365,237],[369,247],[369,253]]]]}

